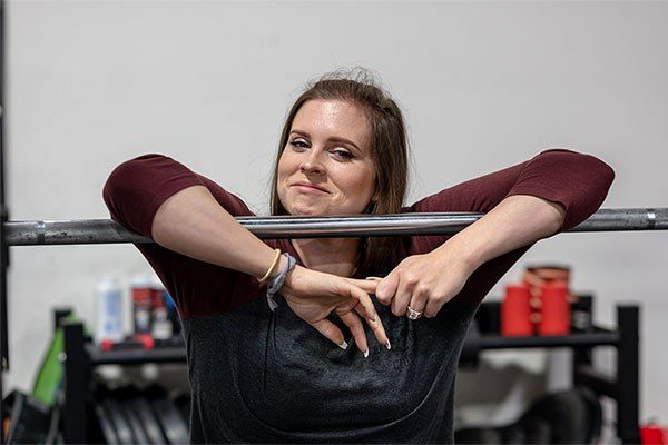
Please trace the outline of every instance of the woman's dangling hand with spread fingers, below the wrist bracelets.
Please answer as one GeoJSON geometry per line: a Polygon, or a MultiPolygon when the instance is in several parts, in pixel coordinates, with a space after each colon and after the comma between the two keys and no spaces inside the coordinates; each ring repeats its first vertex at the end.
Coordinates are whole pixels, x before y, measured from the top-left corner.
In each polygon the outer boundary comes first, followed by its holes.
{"type": "Polygon", "coordinates": [[[369,345],[360,317],[366,319],[382,345],[387,348],[390,345],[381,318],[367,294],[373,294],[375,287],[376,283],[372,280],[344,278],[295,266],[281,288],[281,294],[299,318],[345,349],[347,344],[343,333],[327,319],[334,312],[351,329],[355,344],[366,357],[369,345]]]}

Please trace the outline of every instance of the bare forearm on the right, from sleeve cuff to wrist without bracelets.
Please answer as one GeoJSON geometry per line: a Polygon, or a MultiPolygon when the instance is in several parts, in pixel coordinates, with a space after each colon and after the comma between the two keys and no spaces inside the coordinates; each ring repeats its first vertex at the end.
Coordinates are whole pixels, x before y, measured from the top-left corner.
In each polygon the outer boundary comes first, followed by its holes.
{"type": "MultiPolygon", "coordinates": [[[[503,199],[484,217],[450,238],[445,245],[472,273],[484,263],[539,239],[554,235],[563,225],[559,204],[528,195],[503,199]]],[[[444,250],[445,245],[434,250],[444,250]]]]}

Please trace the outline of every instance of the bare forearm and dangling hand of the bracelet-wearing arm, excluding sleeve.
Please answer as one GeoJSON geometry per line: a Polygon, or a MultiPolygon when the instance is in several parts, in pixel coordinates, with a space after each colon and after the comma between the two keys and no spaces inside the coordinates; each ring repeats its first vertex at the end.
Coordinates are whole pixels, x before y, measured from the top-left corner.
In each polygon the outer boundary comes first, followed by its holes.
{"type": "MultiPolygon", "coordinates": [[[[220,207],[203,186],[189,187],[169,197],[154,217],[151,234],[156,243],[170,250],[256,278],[265,275],[274,259],[274,250],[220,207]]],[[[282,257],[269,276],[282,270],[285,263],[282,257]]],[[[283,294],[295,314],[345,348],[343,334],[327,319],[330,313],[336,313],[351,329],[360,350],[366,352],[364,327],[356,314],[367,319],[381,344],[386,345],[387,337],[371,298],[360,286],[374,290],[366,281],[295,266],[283,294]]]]}

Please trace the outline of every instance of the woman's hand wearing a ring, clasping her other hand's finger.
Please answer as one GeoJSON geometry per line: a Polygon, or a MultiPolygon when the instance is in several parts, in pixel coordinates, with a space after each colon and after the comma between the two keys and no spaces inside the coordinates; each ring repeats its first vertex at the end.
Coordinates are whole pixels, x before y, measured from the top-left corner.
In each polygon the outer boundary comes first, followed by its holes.
{"type": "Polygon", "coordinates": [[[475,270],[456,250],[445,243],[429,254],[405,258],[385,278],[376,279],[376,298],[392,305],[397,317],[405,315],[409,306],[425,317],[435,317],[475,270]]]}

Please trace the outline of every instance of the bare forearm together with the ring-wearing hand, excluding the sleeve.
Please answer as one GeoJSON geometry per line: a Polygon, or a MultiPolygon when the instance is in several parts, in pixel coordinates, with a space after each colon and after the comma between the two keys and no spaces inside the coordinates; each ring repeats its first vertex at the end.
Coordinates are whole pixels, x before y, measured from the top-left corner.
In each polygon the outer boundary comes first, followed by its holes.
{"type": "Polygon", "coordinates": [[[431,253],[402,261],[379,284],[376,297],[391,304],[396,316],[410,305],[434,317],[480,266],[553,235],[563,219],[560,205],[533,196],[508,197],[431,253]]]}

